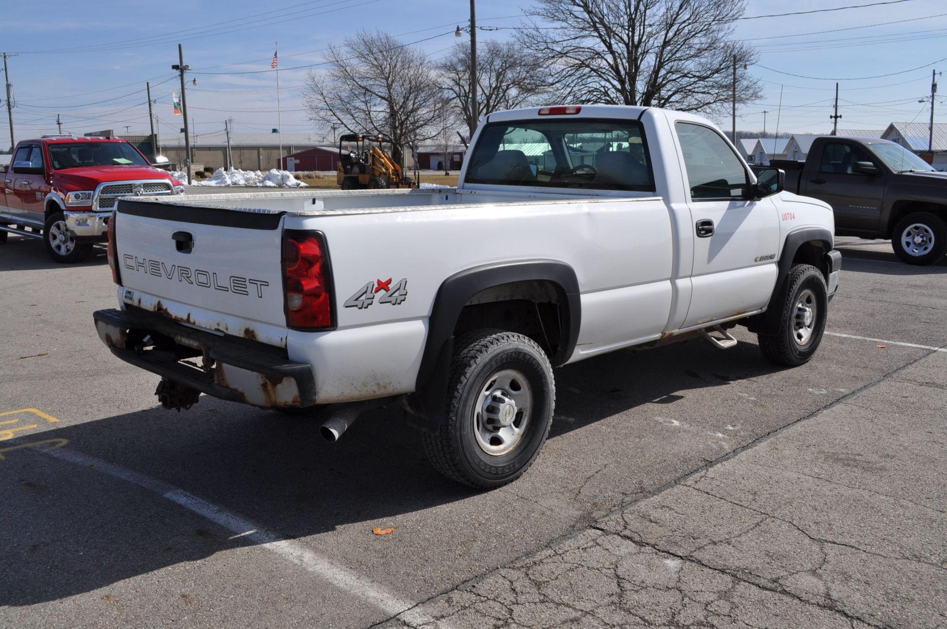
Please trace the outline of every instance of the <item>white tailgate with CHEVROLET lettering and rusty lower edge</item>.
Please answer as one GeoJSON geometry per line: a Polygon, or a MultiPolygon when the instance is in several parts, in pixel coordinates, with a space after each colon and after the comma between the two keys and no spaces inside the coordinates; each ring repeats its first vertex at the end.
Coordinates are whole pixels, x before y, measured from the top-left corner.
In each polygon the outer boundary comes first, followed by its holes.
{"type": "Polygon", "coordinates": [[[286,344],[281,212],[120,201],[123,303],[210,331],[286,344]]]}

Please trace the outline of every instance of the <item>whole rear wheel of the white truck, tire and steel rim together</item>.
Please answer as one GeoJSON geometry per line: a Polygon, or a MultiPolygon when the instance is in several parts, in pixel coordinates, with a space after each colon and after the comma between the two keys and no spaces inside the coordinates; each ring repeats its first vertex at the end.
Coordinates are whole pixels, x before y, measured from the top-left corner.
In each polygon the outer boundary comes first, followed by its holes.
{"type": "Polygon", "coordinates": [[[470,332],[457,339],[446,412],[425,434],[438,472],[476,489],[516,480],[552,425],[556,387],[545,352],[523,334],[470,332]]]}

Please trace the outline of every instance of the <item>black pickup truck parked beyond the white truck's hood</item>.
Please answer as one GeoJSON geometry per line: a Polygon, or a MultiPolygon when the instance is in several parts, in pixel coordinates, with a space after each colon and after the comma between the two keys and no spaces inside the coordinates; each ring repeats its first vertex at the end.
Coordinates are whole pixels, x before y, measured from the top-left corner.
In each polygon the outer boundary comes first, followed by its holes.
{"type": "Polygon", "coordinates": [[[839,236],[890,238],[908,264],[938,261],[947,249],[947,172],[900,144],[827,135],[815,138],[806,161],[768,168],[786,172],[785,189],[831,205],[839,236]]]}

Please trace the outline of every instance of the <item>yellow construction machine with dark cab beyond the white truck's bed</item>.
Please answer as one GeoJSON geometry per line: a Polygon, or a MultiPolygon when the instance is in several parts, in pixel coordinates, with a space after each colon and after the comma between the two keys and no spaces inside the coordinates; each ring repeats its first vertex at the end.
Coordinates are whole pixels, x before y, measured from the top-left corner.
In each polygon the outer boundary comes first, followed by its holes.
{"type": "Polygon", "coordinates": [[[382,135],[346,134],[339,137],[339,170],[335,181],[344,190],[418,188],[382,146],[382,135]],[[374,144],[373,144],[374,143],[374,144]]]}

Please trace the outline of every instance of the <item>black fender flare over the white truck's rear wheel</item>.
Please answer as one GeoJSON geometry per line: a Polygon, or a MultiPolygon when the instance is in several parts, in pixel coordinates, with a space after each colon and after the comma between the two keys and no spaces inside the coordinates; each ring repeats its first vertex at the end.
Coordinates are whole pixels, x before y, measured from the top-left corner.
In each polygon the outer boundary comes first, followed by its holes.
{"type": "MultiPolygon", "coordinates": [[[[465,269],[445,279],[434,299],[415,381],[416,392],[408,403],[413,413],[430,420],[440,415],[454,353],[454,329],[471,297],[494,286],[527,280],[548,281],[555,286],[559,294],[563,342],[550,362],[558,367],[569,359],[576,349],[581,326],[579,279],[570,265],[563,261],[534,259],[492,262],[465,269]]],[[[428,425],[419,427],[429,428],[428,425]]]]}

